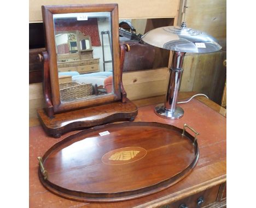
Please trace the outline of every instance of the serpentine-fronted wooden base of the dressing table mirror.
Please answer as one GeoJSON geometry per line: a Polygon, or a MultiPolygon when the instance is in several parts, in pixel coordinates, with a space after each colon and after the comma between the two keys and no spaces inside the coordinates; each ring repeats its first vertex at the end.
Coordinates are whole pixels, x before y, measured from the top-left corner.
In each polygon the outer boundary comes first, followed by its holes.
{"type": "Polygon", "coordinates": [[[37,111],[40,123],[46,133],[55,138],[69,131],[81,130],[86,127],[107,124],[114,121],[133,121],[138,114],[138,108],[129,99],[126,102],[113,102],[77,111],[54,114],[48,117],[44,109],[37,111]],[[98,113],[102,112],[102,113],[98,113]]]}

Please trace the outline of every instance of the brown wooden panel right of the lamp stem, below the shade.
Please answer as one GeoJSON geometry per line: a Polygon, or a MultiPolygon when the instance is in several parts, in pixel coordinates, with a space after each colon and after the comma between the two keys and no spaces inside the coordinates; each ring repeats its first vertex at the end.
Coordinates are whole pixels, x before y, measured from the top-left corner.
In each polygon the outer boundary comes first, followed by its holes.
{"type": "Polygon", "coordinates": [[[203,93],[220,105],[226,80],[226,52],[185,56],[180,91],[203,93]]]}

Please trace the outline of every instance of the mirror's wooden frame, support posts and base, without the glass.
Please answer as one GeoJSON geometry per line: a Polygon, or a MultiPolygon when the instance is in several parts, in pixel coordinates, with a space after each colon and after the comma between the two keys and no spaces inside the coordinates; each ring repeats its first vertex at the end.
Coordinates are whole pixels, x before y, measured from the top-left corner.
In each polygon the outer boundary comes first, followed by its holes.
{"type": "Polygon", "coordinates": [[[137,106],[126,97],[122,83],[125,52],[129,45],[119,44],[118,4],[81,4],[42,6],[46,51],[38,54],[44,62],[43,93],[46,107],[37,109],[46,133],[55,138],[62,134],[114,121],[133,121],[137,106]],[[112,29],[113,92],[84,100],[61,102],[54,36],[54,14],[109,12],[112,29]]]}

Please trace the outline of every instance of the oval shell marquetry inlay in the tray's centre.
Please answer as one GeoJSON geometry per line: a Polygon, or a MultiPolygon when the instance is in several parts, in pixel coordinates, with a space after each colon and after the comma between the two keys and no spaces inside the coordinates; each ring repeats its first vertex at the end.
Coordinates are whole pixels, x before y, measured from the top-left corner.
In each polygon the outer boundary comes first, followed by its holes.
{"type": "Polygon", "coordinates": [[[102,162],[110,165],[126,164],[141,160],[147,155],[147,150],[139,146],[128,146],[107,152],[102,162]]]}

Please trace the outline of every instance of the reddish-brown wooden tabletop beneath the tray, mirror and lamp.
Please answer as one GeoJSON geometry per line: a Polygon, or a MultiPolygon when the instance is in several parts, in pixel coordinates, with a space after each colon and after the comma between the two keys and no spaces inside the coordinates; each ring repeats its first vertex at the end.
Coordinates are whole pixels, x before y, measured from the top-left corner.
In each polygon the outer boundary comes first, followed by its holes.
{"type": "MultiPolygon", "coordinates": [[[[179,93],[179,100],[194,93],[179,93]]],[[[153,112],[154,105],[161,103],[164,96],[137,100],[139,107],[135,121],[171,124],[182,128],[187,123],[200,133],[198,143],[200,157],[195,169],[182,181],[158,193],[138,199],[117,203],[81,203],[67,200],[46,190],[38,179],[38,156],[43,156],[55,143],[78,131],[69,132],[59,139],[49,137],[41,126],[30,127],[30,207],[156,207],[199,193],[206,188],[226,181],[226,112],[216,103],[198,97],[181,104],[184,117],[165,120],[153,112]]]]}

